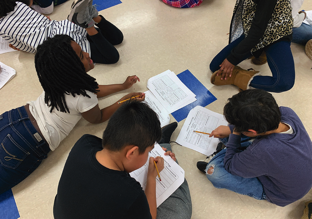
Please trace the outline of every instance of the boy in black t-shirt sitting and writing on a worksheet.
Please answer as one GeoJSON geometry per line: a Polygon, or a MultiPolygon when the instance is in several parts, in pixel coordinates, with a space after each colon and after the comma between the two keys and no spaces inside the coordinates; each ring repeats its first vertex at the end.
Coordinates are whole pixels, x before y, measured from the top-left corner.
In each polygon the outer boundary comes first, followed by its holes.
{"type": "MultiPolygon", "coordinates": [[[[158,212],[159,217],[190,218],[192,204],[186,180],[171,195],[174,201],[169,197],[156,208],[154,161],[161,171],[162,157],[149,159],[145,192],[129,175],[145,164],[161,136],[157,114],[148,105],[124,103],[110,118],[103,140],[84,135],[72,148],[58,185],[54,217],[156,218],[158,212]]],[[[166,147],[169,149],[170,145],[166,147]]],[[[175,160],[171,151],[165,154],[175,160]]]]}

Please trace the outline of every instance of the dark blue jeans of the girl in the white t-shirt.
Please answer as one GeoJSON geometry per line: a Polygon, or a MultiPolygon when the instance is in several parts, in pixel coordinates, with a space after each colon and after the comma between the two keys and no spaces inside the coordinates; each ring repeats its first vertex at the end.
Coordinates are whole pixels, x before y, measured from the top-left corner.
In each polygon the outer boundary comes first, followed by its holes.
{"type": "Polygon", "coordinates": [[[38,142],[36,133],[24,106],[0,115],[0,194],[20,183],[47,157],[49,145],[43,139],[38,142]]]}

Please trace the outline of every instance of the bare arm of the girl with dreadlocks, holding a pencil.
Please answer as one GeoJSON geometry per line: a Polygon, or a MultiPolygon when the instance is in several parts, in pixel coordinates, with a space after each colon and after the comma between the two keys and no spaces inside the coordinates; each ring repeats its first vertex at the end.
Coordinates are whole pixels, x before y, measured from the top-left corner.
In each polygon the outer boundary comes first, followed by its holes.
{"type": "Polygon", "coordinates": [[[85,120],[87,120],[90,123],[96,124],[96,123],[105,122],[107,119],[109,119],[115,113],[115,111],[119,108],[119,106],[122,105],[122,104],[118,104],[119,101],[127,100],[132,96],[140,96],[140,97],[136,98],[136,100],[139,100],[139,101],[145,100],[145,94],[144,93],[130,93],[130,94],[122,97],[121,99],[119,99],[117,102],[115,102],[114,104],[112,104],[110,106],[107,106],[103,109],[100,109],[99,105],[97,104],[92,109],[81,113],[81,115],[85,120]]]}

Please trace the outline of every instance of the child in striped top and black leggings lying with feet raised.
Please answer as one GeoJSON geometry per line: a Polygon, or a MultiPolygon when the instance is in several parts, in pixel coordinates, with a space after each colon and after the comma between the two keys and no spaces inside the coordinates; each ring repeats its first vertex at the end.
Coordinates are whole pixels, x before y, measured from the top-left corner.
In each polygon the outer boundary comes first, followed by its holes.
{"type": "Polygon", "coordinates": [[[75,2],[71,11],[73,19],[51,21],[30,8],[32,0],[1,0],[0,36],[13,49],[35,53],[37,46],[48,37],[66,34],[89,53],[95,63],[118,62],[119,53],[114,45],[123,41],[122,32],[98,14],[92,0],[75,2]]]}

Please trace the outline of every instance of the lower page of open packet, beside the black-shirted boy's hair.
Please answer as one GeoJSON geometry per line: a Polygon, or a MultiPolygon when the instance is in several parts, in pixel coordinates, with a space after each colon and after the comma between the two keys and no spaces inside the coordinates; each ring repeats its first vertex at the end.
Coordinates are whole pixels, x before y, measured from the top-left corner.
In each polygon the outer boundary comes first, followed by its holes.
{"type": "Polygon", "coordinates": [[[164,127],[170,123],[170,116],[168,110],[160,104],[159,100],[154,96],[151,91],[145,91],[145,102],[152,108],[158,115],[160,126],[164,127]]]}

